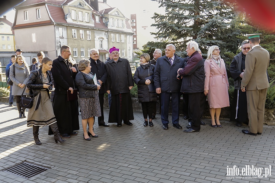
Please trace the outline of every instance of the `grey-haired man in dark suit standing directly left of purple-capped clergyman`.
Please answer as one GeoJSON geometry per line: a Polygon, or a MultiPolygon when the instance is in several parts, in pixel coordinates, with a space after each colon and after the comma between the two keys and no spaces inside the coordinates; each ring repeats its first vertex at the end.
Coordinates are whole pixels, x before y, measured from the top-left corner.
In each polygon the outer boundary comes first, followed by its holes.
{"type": "Polygon", "coordinates": [[[103,112],[103,104],[104,104],[104,94],[106,93],[105,83],[107,81],[107,71],[105,69],[105,63],[101,62],[98,59],[98,50],[96,48],[90,49],[90,65],[91,72],[96,74],[98,82],[101,84],[101,88],[98,92],[99,95],[99,103],[101,109],[101,116],[98,117],[98,126],[108,127],[110,125],[106,124],[104,121],[104,112],[103,112]]]}

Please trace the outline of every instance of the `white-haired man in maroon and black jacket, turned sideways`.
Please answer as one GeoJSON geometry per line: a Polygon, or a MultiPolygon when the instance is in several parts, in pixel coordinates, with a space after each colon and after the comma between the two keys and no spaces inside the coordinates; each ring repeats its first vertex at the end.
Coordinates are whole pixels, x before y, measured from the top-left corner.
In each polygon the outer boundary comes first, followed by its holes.
{"type": "Polygon", "coordinates": [[[188,94],[188,116],[189,124],[184,132],[200,131],[201,114],[204,110],[204,60],[200,55],[199,45],[190,41],[186,52],[189,56],[184,68],[178,69],[178,75],[182,76],[181,92],[188,94]]]}

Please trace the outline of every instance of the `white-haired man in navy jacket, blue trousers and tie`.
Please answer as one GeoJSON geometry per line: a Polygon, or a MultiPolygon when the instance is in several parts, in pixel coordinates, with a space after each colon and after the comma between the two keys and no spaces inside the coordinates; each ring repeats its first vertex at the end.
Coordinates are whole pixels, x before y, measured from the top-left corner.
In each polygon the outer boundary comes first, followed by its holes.
{"type": "Polygon", "coordinates": [[[168,130],[168,109],[171,98],[173,127],[182,129],[178,124],[181,79],[177,79],[177,70],[183,67],[183,59],[175,55],[176,47],[166,46],[165,56],[157,59],[154,71],[156,93],[161,94],[161,122],[162,128],[168,130]]]}

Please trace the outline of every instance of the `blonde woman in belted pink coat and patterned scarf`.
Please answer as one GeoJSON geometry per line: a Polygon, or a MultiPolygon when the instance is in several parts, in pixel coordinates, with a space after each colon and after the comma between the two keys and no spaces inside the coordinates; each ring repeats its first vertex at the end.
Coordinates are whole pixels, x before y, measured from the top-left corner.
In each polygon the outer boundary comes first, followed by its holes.
{"type": "Polygon", "coordinates": [[[211,115],[211,127],[222,127],[220,114],[222,107],[229,106],[229,83],[226,74],[226,66],[220,57],[218,46],[211,46],[204,61],[204,95],[208,94],[209,111],[211,115]],[[216,121],[215,121],[216,116],[216,121]]]}

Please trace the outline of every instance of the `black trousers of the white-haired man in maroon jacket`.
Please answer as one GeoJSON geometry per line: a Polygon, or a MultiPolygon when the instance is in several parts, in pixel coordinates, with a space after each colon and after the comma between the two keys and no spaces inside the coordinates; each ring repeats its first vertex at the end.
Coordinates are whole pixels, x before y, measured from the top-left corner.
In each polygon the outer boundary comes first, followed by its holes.
{"type": "Polygon", "coordinates": [[[200,130],[201,116],[204,112],[205,95],[204,92],[188,93],[188,122],[192,124],[193,130],[200,130]]]}

